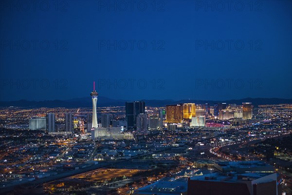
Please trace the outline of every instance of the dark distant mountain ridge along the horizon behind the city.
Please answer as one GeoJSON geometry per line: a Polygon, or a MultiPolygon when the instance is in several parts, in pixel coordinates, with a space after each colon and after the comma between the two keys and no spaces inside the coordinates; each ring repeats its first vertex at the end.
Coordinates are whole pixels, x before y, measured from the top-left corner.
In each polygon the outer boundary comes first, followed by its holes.
{"type": "MultiPolygon", "coordinates": [[[[97,106],[105,107],[105,106],[125,106],[126,99],[111,99],[106,97],[98,97],[97,106]]],[[[292,104],[292,99],[283,99],[283,98],[243,98],[243,99],[230,99],[225,101],[214,101],[214,100],[195,100],[195,99],[182,99],[179,101],[172,99],[136,99],[136,101],[145,101],[146,106],[154,106],[154,107],[164,107],[165,105],[171,104],[179,104],[179,103],[196,103],[203,104],[209,103],[213,105],[218,102],[226,102],[226,103],[236,103],[242,104],[242,102],[252,102],[253,105],[260,104],[292,104]]],[[[86,98],[73,98],[67,100],[44,100],[44,101],[29,101],[25,99],[21,99],[18,101],[0,101],[0,107],[48,107],[48,108],[56,108],[56,107],[65,107],[65,108],[78,108],[78,107],[91,107],[92,102],[90,97],[86,98]]]]}

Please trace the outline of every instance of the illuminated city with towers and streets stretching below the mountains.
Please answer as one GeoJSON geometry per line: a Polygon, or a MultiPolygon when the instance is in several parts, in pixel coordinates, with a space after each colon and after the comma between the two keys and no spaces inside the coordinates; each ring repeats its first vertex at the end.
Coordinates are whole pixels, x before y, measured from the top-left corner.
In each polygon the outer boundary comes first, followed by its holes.
{"type": "Polygon", "coordinates": [[[93,109],[3,107],[1,193],[289,194],[292,104],[95,103],[93,109]],[[219,117],[208,112],[217,105],[219,117]],[[226,163],[237,164],[231,170],[226,163]]]}

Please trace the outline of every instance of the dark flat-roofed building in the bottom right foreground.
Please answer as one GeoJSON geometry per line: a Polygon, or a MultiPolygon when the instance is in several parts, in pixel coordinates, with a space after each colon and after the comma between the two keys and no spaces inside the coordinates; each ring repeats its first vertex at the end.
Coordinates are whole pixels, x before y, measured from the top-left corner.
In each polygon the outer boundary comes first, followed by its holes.
{"type": "Polygon", "coordinates": [[[276,173],[213,173],[190,177],[187,195],[280,195],[280,182],[276,173]]]}

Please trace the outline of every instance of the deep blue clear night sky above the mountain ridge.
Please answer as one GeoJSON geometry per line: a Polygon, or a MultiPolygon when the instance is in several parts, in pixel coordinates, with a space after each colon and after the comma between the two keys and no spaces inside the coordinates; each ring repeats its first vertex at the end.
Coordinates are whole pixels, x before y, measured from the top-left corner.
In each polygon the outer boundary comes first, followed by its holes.
{"type": "Polygon", "coordinates": [[[93,80],[113,99],[292,98],[290,0],[25,2],[1,1],[2,101],[93,80]]]}

